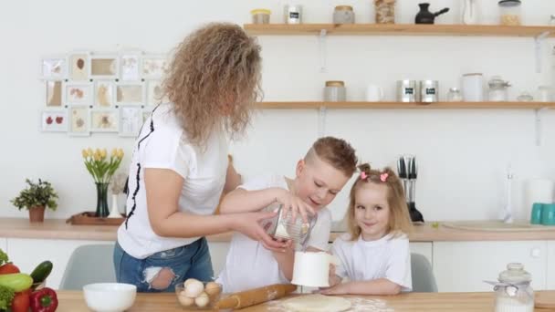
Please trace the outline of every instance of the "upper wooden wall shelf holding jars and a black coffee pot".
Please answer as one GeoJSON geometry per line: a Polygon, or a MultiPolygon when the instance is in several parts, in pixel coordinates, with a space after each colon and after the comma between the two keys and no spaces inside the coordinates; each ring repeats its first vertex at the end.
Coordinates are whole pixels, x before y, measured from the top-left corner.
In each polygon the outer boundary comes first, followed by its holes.
{"type": "Polygon", "coordinates": [[[414,24],[246,24],[250,35],[374,36],[555,36],[555,26],[414,25],[414,24]]]}

